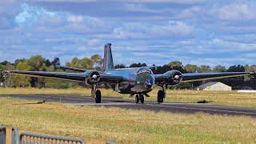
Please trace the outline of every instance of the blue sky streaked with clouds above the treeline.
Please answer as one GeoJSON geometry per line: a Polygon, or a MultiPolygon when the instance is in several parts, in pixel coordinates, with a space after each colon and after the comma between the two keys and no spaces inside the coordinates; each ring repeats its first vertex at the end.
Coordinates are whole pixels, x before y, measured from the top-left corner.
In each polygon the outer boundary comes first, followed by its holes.
{"type": "Polygon", "coordinates": [[[62,64],[103,55],[114,64],[253,65],[253,0],[1,0],[0,61],[41,54],[62,64]]]}

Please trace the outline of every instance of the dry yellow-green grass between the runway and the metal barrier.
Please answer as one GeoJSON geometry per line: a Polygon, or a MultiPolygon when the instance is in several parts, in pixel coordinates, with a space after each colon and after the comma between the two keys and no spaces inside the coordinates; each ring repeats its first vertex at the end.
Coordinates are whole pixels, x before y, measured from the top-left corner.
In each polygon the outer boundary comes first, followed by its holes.
{"type": "Polygon", "coordinates": [[[0,98],[0,124],[88,143],[255,143],[256,119],[246,116],[154,113],[0,98]]]}

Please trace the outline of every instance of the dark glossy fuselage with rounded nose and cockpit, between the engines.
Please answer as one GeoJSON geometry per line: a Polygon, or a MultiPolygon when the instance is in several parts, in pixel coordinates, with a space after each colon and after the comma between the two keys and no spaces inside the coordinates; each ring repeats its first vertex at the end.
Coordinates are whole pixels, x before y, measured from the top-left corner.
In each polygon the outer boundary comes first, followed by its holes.
{"type": "Polygon", "coordinates": [[[106,74],[127,79],[118,84],[118,92],[122,94],[145,94],[154,89],[154,74],[148,67],[107,70],[106,74]]]}

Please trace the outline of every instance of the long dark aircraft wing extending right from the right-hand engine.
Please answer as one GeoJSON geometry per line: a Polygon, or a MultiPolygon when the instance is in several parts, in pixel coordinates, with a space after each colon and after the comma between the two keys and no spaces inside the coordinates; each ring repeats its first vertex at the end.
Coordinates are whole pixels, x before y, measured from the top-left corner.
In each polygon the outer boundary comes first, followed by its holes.
{"type": "Polygon", "coordinates": [[[231,78],[250,75],[250,72],[225,72],[225,73],[190,73],[182,74],[182,82],[203,81],[218,78],[231,78]]]}

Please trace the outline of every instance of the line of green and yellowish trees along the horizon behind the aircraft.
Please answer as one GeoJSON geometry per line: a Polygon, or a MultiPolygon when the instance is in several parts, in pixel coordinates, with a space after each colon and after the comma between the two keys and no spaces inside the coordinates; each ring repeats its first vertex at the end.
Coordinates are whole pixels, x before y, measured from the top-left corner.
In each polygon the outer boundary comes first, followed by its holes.
{"type": "MultiPolygon", "coordinates": [[[[58,71],[67,72],[68,70],[56,69],[54,66],[59,65],[60,59],[54,58],[53,61],[43,58],[41,55],[32,56],[29,59],[22,58],[17,59],[14,63],[12,62],[0,62],[0,72],[2,70],[42,70],[42,71],[58,71]]],[[[94,54],[90,58],[73,58],[70,62],[66,62],[66,66],[78,67],[83,69],[96,69],[101,70],[103,59],[100,55],[94,54]]],[[[118,64],[115,68],[125,68],[125,67],[138,67],[146,66],[146,63],[133,63],[130,66],[125,66],[124,64],[118,64]]],[[[154,74],[162,74],[168,70],[179,70],[182,73],[195,73],[195,72],[253,72],[256,65],[237,65],[230,66],[226,68],[225,66],[196,66],[193,64],[182,65],[182,62],[174,61],[163,66],[157,66],[156,70],[153,70],[154,74]]],[[[216,80],[215,80],[216,81],[216,80]]],[[[226,78],[218,80],[219,82],[226,83],[232,86],[234,90],[238,89],[256,89],[256,79],[246,76],[242,78],[226,78]]],[[[5,82],[0,75],[0,82],[5,82]]],[[[38,88],[70,88],[77,87],[78,84],[74,82],[59,81],[47,78],[29,78],[22,76],[11,76],[8,78],[8,86],[10,87],[38,87],[38,88]]],[[[188,82],[182,83],[181,85],[171,87],[173,89],[193,89],[199,86],[202,82],[188,82]]]]}

